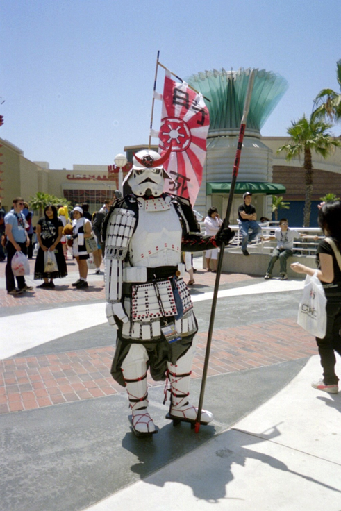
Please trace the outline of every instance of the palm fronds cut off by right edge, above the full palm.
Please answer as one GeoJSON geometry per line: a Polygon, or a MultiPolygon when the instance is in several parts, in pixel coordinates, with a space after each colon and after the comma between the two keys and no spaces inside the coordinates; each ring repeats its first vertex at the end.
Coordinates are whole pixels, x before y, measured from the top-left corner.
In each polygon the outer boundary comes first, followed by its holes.
{"type": "MultiPolygon", "coordinates": [[[[336,79],[341,91],[341,58],[336,62],[336,79]]],[[[314,99],[313,119],[326,119],[331,122],[341,120],[341,94],[333,89],[322,89],[314,99]]]]}

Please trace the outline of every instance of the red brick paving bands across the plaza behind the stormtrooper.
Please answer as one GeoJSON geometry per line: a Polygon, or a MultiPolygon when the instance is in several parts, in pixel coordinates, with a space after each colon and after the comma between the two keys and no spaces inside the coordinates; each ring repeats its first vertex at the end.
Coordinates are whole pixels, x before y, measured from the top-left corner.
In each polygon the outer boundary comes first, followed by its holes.
{"type": "MultiPolygon", "coordinates": [[[[34,260],[30,261],[33,276],[34,260]]],[[[77,275],[76,263],[67,262],[69,273],[77,275]]],[[[0,278],[5,264],[0,264],[0,278]]],[[[90,274],[92,271],[90,270],[90,274]]],[[[211,290],[215,274],[198,270],[194,274],[194,290],[211,290]],[[206,289],[205,289],[206,287],[206,289]]],[[[254,280],[243,274],[222,274],[220,283],[228,285],[254,280]]],[[[185,280],[188,280],[187,278],[185,280]]],[[[85,300],[104,300],[103,280],[97,279],[87,290],[75,290],[58,281],[55,290],[34,290],[19,296],[8,296],[0,290],[3,307],[74,303],[85,300]]],[[[38,282],[37,282],[38,284],[38,282]]],[[[197,335],[197,355],[192,378],[200,378],[205,358],[207,332],[197,335]]],[[[0,414],[33,410],[46,406],[97,399],[125,392],[110,376],[114,347],[52,353],[49,355],[15,357],[0,361],[0,414]]],[[[315,339],[297,324],[296,317],[272,319],[249,326],[216,329],[210,355],[208,376],[242,371],[254,367],[296,360],[317,353],[315,339]]],[[[149,385],[160,385],[148,379],[149,385]]],[[[161,383],[161,385],[163,385],[161,383]]]]}

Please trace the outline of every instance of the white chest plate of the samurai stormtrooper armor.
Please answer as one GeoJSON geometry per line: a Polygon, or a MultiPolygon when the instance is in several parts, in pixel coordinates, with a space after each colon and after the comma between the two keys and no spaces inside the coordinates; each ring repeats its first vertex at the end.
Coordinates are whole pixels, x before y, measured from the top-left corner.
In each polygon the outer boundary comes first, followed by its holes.
{"type": "Polygon", "coordinates": [[[144,200],[139,202],[138,227],[129,247],[131,265],[149,268],[178,265],[182,230],[174,206],[165,203],[164,208],[159,205],[157,210],[146,210],[144,200]]]}

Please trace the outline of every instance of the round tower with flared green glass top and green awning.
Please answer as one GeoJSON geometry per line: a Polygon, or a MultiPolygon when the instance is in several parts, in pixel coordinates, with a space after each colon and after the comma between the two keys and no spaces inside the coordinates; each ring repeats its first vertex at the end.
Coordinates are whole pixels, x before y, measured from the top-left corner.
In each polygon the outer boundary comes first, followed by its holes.
{"type": "MultiPolygon", "coordinates": [[[[231,213],[233,218],[237,217],[240,204],[238,194],[246,190],[257,196],[254,202],[258,204],[258,216],[271,216],[271,195],[285,193],[285,187],[272,183],[272,149],[262,142],[260,129],[288,89],[288,82],[283,76],[264,69],[253,69],[253,72],[255,79],[231,213]]],[[[211,205],[224,213],[250,74],[250,68],[213,69],[188,78],[189,85],[210,100],[205,99],[210,128],[203,181],[196,201],[196,209],[202,214],[211,205]]]]}

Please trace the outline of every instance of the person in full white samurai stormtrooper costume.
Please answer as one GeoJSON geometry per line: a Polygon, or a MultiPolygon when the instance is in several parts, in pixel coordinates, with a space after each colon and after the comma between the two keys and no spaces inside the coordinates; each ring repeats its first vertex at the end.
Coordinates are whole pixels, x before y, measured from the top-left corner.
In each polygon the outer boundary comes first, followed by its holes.
{"type": "MultiPolygon", "coordinates": [[[[215,237],[195,234],[199,225],[190,201],[163,193],[167,157],[151,150],[134,155],[125,180],[133,193],[115,201],[103,226],[106,315],[117,328],[111,374],[127,389],[138,436],[157,433],[148,411],[148,368],[153,380],[169,382],[167,418],[174,425],[197,418],[188,402],[197,321],[182,278],[181,251],[214,248],[234,235],[229,228],[215,237]]],[[[201,424],[212,419],[202,410],[201,424]]]]}

